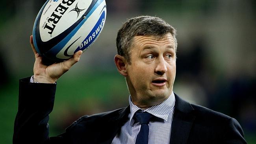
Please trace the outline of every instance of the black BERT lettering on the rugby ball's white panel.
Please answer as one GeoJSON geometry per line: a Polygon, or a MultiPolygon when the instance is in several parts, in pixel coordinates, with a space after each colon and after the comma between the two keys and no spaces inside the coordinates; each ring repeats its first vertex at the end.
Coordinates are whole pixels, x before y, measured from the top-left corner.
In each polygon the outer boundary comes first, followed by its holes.
{"type": "Polygon", "coordinates": [[[48,18],[47,22],[45,24],[44,29],[48,29],[48,33],[51,35],[54,31],[56,24],[58,24],[59,20],[61,19],[62,15],[67,11],[69,6],[71,6],[74,1],[76,0],[62,0],[62,2],[59,4],[59,6],[54,10],[50,18],[48,18]]]}

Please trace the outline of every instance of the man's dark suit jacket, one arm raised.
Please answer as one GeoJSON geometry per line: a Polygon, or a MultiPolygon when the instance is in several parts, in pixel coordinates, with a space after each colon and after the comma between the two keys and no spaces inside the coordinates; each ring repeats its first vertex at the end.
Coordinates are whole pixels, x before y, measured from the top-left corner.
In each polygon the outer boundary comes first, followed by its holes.
{"type": "MultiPolygon", "coordinates": [[[[66,132],[48,137],[48,119],[56,84],[29,83],[21,79],[14,144],[110,144],[128,120],[130,107],[82,116],[66,132]]],[[[239,123],[229,116],[190,104],[175,94],[171,144],[246,144],[239,123]]]]}

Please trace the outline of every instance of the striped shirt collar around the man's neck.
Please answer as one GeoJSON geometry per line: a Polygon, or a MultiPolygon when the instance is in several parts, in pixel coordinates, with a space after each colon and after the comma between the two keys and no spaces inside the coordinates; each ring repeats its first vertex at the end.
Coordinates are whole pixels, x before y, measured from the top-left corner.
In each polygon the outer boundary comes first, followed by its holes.
{"type": "Polygon", "coordinates": [[[154,116],[161,118],[165,121],[168,120],[169,115],[171,112],[174,110],[174,104],[175,104],[175,96],[174,93],[169,96],[165,101],[158,105],[154,105],[152,107],[149,107],[148,109],[141,109],[137,107],[137,105],[134,105],[132,103],[132,98],[129,96],[129,103],[130,103],[130,114],[129,114],[129,119],[130,119],[130,125],[132,126],[134,124],[134,119],[133,116],[137,111],[146,111],[150,114],[153,114],[154,116]]]}

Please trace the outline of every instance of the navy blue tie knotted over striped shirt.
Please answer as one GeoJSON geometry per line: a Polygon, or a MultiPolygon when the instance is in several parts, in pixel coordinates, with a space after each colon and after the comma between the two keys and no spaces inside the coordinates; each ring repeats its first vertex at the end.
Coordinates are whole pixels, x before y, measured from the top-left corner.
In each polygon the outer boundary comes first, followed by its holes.
{"type": "Polygon", "coordinates": [[[148,144],[148,123],[153,115],[147,112],[136,112],[134,117],[137,122],[141,124],[141,129],[139,130],[139,133],[136,137],[135,144],[148,144]]]}

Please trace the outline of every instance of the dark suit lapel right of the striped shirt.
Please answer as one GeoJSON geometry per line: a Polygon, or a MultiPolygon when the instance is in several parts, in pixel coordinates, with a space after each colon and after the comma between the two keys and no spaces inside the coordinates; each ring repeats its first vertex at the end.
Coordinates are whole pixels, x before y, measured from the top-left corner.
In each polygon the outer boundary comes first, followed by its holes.
{"type": "Polygon", "coordinates": [[[195,115],[193,107],[175,95],[175,109],[171,128],[170,144],[186,144],[195,115]]]}

